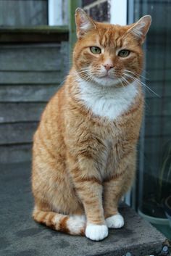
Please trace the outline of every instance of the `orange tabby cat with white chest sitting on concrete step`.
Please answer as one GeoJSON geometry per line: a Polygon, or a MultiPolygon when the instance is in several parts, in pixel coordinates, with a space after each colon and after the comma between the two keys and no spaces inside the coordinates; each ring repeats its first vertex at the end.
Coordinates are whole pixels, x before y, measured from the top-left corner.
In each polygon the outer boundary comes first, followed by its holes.
{"type": "Polygon", "coordinates": [[[33,141],[33,218],[99,241],[121,228],[118,201],[135,173],[143,113],[138,80],[151,24],[109,25],[76,9],[78,41],[64,86],[47,104],[33,141]]]}

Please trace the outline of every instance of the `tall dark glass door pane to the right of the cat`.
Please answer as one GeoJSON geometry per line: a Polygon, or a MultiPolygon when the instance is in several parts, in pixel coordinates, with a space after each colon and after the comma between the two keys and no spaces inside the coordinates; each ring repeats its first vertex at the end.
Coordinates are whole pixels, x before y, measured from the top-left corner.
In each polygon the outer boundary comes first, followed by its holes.
{"type": "Polygon", "coordinates": [[[139,145],[138,210],[171,238],[164,207],[171,196],[171,2],[135,0],[133,10],[135,20],[152,17],[144,46],[146,107],[139,145]]]}

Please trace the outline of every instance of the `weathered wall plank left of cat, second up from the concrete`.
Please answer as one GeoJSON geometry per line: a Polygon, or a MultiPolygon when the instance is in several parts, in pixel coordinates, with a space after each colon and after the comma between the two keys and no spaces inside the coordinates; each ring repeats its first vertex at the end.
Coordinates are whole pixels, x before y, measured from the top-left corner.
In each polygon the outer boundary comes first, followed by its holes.
{"type": "Polygon", "coordinates": [[[0,145],[30,143],[38,122],[0,125],[0,145]]]}

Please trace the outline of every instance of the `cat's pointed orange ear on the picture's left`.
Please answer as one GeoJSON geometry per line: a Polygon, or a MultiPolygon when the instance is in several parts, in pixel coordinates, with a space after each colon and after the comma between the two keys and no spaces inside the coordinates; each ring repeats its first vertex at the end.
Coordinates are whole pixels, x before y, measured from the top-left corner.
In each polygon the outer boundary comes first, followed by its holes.
{"type": "Polygon", "coordinates": [[[81,8],[75,10],[75,24],[78,38],[83,37],[89,30],[96,28],[95,23],[81,8]]]}

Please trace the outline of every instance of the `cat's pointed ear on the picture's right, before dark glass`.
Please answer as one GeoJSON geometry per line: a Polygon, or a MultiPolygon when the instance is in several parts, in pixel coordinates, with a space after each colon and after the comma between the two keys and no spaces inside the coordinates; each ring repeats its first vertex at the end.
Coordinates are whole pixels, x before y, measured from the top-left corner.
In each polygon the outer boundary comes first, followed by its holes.
{"type": "Polygon", "coordinates": [[[143,44],[143,41],[146,38],[146,33],[149,30],[151,25],[151,16],[146,15],[141,17],[138,22],[136,22],[133,27],[128,30],[128,33],[133,33],[133,35],[143,44]]]}

